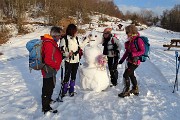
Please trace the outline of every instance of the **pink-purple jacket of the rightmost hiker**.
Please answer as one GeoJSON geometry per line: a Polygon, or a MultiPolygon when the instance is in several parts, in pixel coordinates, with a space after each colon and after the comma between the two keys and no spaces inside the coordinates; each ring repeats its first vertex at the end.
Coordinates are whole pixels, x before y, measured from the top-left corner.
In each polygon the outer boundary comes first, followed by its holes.
{"type": "Polygon", "coordinates": [[[133,60],[134,57],[141,56],[145,52],[144,42],[141,38],[138,38],[137,40],[139,51],[135,47],[134,40],[139,36],[140,36],[139,34],[137,36],[132,36],[131,38],[128,38],[129,40],[127,42],[125,42],[125,53],[121,58],[121,61],[124,61],[127,58],[126,60],[130,63],[133,63],[135,65],[140,64],[140,60],[136,62],[133,60]]]}

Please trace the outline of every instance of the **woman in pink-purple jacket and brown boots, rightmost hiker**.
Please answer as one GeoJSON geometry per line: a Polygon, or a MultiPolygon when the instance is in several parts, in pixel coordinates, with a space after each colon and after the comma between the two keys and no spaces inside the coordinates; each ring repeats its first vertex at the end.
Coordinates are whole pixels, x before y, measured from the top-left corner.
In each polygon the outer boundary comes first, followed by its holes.
{"type": "Polygon", "coordinates": [[[130,93],[134,95],[139,95],[138,84],[136,77],[134,75],[135,69],[140,65],[140,60],[138,56],[141,56],[145,52],[144,42],[141,38],[139,38],[140,34],[138,33],[138,29],[135,25],[129,25],[125,27],[125,31],[128,37],[128,41],[125,42],[125,53],[119,61],[119,64],[122,64],[124,60],[127,61],[127,67],[125,68],[123,74],[124,88],[123,91],[118,94],[119,97],[130,96],[130,93]],[[138,39],[137,44],[139,46],[139,50],[136,49],[134,40],[138,39]],[[132,89],[130,90],[130,80],[132,83],[132,89]]]}

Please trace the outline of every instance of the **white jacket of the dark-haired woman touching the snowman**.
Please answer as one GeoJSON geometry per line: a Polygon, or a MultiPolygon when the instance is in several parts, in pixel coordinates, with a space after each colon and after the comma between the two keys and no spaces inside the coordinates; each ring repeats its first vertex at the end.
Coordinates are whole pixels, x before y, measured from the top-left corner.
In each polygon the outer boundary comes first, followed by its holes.
{"type": "MultiPolygon", "coordinates": [[[[63,56],[66,57],[65,60],[67,62],[78,63],[79,62],[79,54],[73,55],[73,57],[71,57],[71,59],[69,59],[69,52],[71,52],[71,51],[73,51],[73,52],[78,51],[78,43],[77,43],[76,37],[71,37],[71,36],[67,35],[67,40],[68,40],[68,48],[66,46],[64,38],[60,41],[60,47],[61,48],[63,47],[63,50],[65,51],[63,56]],[[69,49],[69,51],[68,51],[68,49],[69,49]]],[[[79,47],[81,49],[84,49],[84,47],[88,43],[88,41],[89,41],[88,38],[86,40],[84,40],[82,43],[79,41],[79,47]]]]}

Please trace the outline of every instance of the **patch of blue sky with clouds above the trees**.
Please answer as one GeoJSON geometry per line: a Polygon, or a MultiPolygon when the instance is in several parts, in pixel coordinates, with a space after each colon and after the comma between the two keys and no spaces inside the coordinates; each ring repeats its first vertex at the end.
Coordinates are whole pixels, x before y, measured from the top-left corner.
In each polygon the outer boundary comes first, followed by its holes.
{"type": "Polygon", "coordinates": [[[176,4],[180,4],[180,0],[114,0],[119,9],[125,13],[138,12],[141,9],[152,10],[157,15],[162,15],[163,10],[170,10],[176,4]]]}

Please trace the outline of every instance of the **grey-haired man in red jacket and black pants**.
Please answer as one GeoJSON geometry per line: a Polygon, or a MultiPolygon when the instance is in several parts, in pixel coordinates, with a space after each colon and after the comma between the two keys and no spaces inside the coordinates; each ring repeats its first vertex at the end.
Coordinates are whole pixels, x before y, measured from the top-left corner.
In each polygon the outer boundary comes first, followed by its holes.
{"type": "Polygon", "coordinates": [[[50,34],[41,36],[43,40],[42,58],[45,63],[44,68],[41,70],[43,76],[42,87],[42,111],[57,113],[57,110],[53,110],[50,107],[50,103],[53,101],[51,96],[56,83],[56,73],[60,68],[62,61],[62,54],[58,47],[57,42],[61,38],[60,27],[52,27],[50,34]]]}

